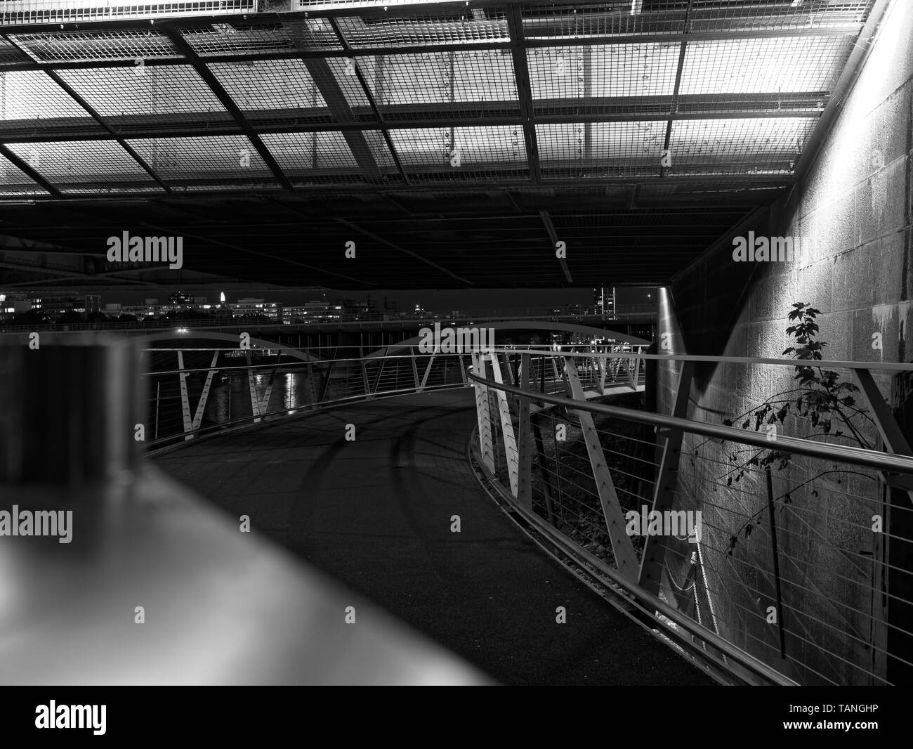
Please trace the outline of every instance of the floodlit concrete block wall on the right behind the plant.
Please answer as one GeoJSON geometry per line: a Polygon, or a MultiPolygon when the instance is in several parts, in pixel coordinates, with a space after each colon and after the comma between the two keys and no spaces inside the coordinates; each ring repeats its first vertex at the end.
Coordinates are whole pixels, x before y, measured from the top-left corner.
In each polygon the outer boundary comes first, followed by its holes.
{"type": "MultiPolygon", "coordinates": [[[[673,353],[780,358],[792,343],[787,315],[793,302],[803,301],[821,311],[825,358],[913,360],[907,343],[913,322],[913,3],[896,0],[887,14],[803,180],[739,232],[800,237],[809,252],[792,263],[738,263],[725,243],[698,259],[661,300],[658,333],[669,333],[673,353]],[[875,334],[881,349],[873,346],[875,334]]],[[[657,400],[668,412],[677,368],[660,369],[657,400]]],[[[689,417],[720,423],[750,412],[792,387],[792,374],[790,367],[702,367],[689,417]]],[[[896,396],[897,381],[889,375],[876,374],[876,383],[889,401],[896,396]]],[[[788,433],[806,436],[812,427],[797,423],[788,433]]],[[[868,430],[866,437],[874,439],[874,433],[868,430]]],[[[773,596],[766,512],[758,533],[726,554],[729,534],[766,506],[764,483],[746,480],[738,491],[721,486],[727,451],[719,443],[686,439],[678,484],[683,496],[705,507],[701,551],[720,630],[805,683],[883,683],[885,671],[874,665],[869,645],[879,616],[870,589],[878,542],[867,527],[881,507],[876,482],[828,474],[814,482],[817,496],[798,491],[792,507],[778,511],[790,630],[790,659],[782,661],[776,628],[765,620],[773,596]]],[[[823,461],[795,459],[774,471],[774,494],[828,468],[823,461]]]]}

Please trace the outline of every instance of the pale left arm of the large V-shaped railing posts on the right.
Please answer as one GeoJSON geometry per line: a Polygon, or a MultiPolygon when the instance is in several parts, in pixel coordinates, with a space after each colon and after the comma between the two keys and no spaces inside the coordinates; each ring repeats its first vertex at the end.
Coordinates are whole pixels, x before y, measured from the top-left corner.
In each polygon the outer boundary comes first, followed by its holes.
{"type": "MultiPolygon", "coordinates": [[[[577,401],[586,401],[583,395],[583,386],[580,383],[580,377],[577,374],[577,367],[573,363],[573,356],[564,357],[564,370],[567,376],[568,386],[571,389],[571,396],[577,401]]],[[[631,537],[625,533],[624,513],[621,504],[618,501],[618,494],[615,492],[612,474],[605,463],[603,446],[600,444],[599,435],[596,433],[595,424],[593,424],[593,414],[589,411],[573,411],[573,416],[580,420],[580,428],[583,434],[583,442],[586,445],[587,454],[590,457],[590,467],[593,469],[593,480],[596,482],[596,491],[599,494],[599,503],[603,507],[603,518],[605,527],[609,533],[609,539],[612,542],[612,552],[615,557],[615,564],[618,572],[627,577],[629,580],[637,579],[637,554],[635,554],[634,543],[631,537]]]]}

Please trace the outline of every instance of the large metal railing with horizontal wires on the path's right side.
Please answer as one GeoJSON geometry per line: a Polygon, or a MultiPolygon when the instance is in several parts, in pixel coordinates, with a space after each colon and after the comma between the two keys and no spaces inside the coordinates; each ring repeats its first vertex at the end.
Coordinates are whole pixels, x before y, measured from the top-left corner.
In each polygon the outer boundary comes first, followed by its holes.
{"type": "Polygon", "coordinates": [[[724,367],[735,388],[789,379],[797,360],[631,360],[680,369],[671,416],[635,395],[587,402],[590,373],[612,365],[606,353],[473,355],[473,451],[501,499],[727,680],[908,683],[913,458],[872,371],[913,365],[810,363],[857,384],[841,405],[858,425],[832,431],[824,408],[794,426],[750,413],[740,428],[698,409],[706,393],[689,406],[696,366],[724,367]],[[512,380],[504,356],[519,357],[512,380]],[[561,374],[561,396],[542,392],[543,370],[561,374]]]}

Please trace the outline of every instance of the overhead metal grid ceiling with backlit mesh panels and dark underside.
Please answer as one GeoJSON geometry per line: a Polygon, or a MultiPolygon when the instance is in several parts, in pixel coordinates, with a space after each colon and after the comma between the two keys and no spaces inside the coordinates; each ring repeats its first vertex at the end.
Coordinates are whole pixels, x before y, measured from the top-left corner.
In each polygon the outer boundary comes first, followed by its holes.
{"type": "Polygon", "coordinates": [[[574,283],[661,283],[792,185],[876,4],[236,2],[0,4],[0,232],[97,254],[116,210],[243,278],[554,286],[551,222],[574,283]],[[283,267],[346,222],[449,273],[283,267]]]}

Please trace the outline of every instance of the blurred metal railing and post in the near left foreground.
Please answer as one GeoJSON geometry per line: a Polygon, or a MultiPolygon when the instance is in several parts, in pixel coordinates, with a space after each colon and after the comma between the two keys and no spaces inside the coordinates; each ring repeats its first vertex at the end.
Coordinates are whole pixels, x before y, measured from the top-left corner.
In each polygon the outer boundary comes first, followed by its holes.
{"type": "Polygon", "coordinates": [[[0,684],[489,683],[144,460],[138,365],[0,338],[0,684]]]}

